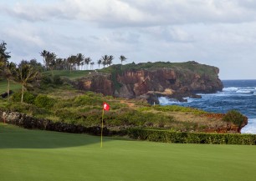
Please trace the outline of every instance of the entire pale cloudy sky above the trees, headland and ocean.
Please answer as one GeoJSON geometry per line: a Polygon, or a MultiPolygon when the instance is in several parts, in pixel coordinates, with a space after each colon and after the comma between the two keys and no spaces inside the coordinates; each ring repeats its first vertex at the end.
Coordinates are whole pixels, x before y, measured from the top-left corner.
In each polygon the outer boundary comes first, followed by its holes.
{"type": "Polygon", "coordinates": [[[221,79],[256,79],[256,1],[1,0],[0,41],[15,63],[43,63],[45,49],[95,63],[196,61],[221,79]]]}

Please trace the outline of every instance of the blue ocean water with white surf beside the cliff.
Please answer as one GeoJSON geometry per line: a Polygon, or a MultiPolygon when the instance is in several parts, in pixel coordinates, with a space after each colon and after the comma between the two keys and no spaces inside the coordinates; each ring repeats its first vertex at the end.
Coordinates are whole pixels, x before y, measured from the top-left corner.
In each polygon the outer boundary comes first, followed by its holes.
{"type": "Polygon", "coordinates": [[[159,98],[161,105],[182,105],[201,108],[212,113],[227,113],[238,110],[248,117],[242,133],[256,133],[256,80],[223,80],[223,91],[200,94],[202,98],[187,98],[187,103],[177,102],[165,97],[159,98]]]}

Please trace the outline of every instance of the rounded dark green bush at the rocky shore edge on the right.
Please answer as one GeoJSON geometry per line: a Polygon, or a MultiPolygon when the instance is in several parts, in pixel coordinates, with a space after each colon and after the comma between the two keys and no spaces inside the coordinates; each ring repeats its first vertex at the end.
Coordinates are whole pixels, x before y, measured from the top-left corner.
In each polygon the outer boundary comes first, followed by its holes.
{"type": "Polygon", "coordinates": [[[240,127],[243,123],[243,119],[245,117],[243,116],[242,113],[239,113],[236,110],[230,110],[228,113],[226,113],[223,117],[223,121],[225,122],[231,122],[240,127]]]}

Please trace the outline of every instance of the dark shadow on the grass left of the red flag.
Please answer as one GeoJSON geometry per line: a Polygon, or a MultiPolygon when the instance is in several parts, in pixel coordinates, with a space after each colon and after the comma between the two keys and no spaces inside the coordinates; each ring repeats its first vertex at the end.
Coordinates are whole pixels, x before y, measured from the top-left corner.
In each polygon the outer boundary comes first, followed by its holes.
{"type": "MultiPolygon", "coordinates": [[[[103,138],[103,142],[109,141],[111,141],[111,138],[103,138]]],[[[28,130],[0,123],[0,149],[67,148],[90,144],[98,144],[100,148],[100,137],[88,134],[28,130]]]]}

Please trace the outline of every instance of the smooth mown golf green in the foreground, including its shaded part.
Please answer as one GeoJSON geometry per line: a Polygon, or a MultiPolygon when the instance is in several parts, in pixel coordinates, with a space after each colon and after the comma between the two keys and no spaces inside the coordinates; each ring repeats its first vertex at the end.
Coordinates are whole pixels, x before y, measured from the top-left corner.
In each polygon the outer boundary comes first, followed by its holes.
{"type": "Polygon", "coordinates": [[[256,147],[152,143],[0,124],[0,180],[255,181],[256,147]]]}

